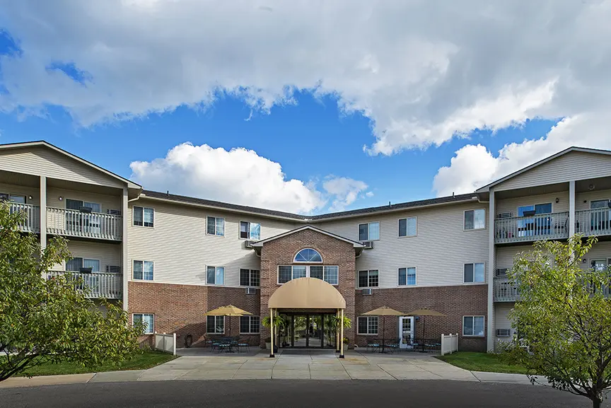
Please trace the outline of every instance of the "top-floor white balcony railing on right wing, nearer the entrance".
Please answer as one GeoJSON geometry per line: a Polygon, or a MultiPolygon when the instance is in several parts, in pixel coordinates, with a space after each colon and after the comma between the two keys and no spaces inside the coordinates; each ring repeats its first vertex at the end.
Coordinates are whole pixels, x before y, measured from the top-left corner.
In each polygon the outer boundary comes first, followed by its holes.
{"type": "Polygon", "coordinates": [[[496,218],[495,243],[557,240],[569,238],[569,212],[496,218]]]}

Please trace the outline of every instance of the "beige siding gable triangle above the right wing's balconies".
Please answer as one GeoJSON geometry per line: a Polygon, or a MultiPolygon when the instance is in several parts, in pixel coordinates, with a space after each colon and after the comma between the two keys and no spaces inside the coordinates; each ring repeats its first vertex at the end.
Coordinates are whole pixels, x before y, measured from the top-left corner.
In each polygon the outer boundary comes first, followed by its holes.
{"type": "Polygon", "coordinates": [[[610,155],[571,151],[499,183],[494,186],[494,190],[513,190],[609,175],[611,175],[610,155]]]}

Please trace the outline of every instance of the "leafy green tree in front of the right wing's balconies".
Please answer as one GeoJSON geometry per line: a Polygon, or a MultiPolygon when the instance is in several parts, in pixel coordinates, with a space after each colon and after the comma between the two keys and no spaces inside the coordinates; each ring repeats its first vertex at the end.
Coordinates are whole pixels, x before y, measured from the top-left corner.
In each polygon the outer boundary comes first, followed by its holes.
{"type": "Polygon", "coordinates": [[[520,296],[509,318],[518,336],[505,358],[528,368],[532,383],[545,375],[600,407],[611,386],[611,279],[608,269],[582,267],[595,242],[537,242],[516,257],[509,277],[520,296]]]}

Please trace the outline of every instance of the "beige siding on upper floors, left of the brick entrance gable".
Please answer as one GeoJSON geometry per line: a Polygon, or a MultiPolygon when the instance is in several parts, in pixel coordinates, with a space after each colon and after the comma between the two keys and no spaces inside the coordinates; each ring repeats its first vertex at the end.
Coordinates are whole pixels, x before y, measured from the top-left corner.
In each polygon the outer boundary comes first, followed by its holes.
{"type": "Polygon", "coordinates": [[[270,238],[296,228],[292,222],[257,216],[208,211],[192,206],[140,199],[129,203],[128,265],[132,279],[133,260],[154,262],[154,281],[166,284],[206,284],[206,265],[225,267],[224,286],[239,286],[240,268],[259,269],[260,258],[244,247],[239,238],[240,221],[261,224],[261,238],[270,238]],[[133,207],[155,209],[154,227],[132,225],[133,207]],[[206,217],[225,218],[225,236],[206,234],[206,217]]]}

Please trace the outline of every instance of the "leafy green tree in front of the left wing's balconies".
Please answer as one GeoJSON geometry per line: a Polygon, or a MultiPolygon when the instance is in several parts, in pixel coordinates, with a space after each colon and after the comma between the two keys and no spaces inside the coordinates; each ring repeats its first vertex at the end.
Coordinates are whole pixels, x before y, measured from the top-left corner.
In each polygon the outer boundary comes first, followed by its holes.
{"type": "Polygon", "coordinates": [[[52,238],[41,251],[36,235],[18,231],[24,219],[0,203],[0,381],[42,363],[93,368],[139,353],[143,327],[129,325],[122,308],[103,301],[102,313],[68,274],[47,279],[53,265],[71,257],[67,241],[52,238]]]}

